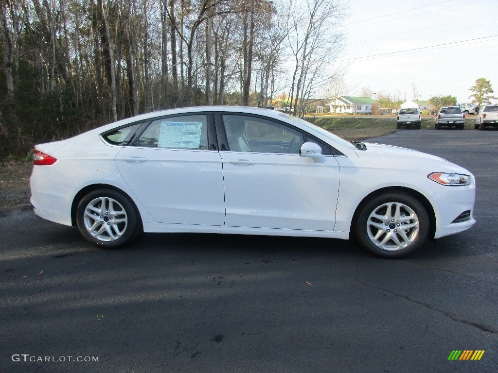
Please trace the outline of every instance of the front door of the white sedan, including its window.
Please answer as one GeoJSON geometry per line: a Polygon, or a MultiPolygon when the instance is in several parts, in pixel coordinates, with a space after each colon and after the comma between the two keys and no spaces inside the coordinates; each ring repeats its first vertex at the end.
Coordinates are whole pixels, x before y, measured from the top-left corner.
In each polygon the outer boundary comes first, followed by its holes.
{"type": "Polygon", "coordinates": [[[332,231],[339,164],[299,156],[303,134],[280,122],[223,115],[229,151],[220,152],[225,225],[332,231]]]}

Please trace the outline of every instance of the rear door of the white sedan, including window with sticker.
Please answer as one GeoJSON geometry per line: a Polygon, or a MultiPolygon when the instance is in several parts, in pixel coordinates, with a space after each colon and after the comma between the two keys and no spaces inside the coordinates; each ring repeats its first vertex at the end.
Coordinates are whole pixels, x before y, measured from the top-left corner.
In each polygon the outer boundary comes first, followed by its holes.
{"type": "Polygon", "coordinates": [[[136,198],[159,223],[223,225],[222,160],[210,113],[157,118],[116,157],[136,198]]]}

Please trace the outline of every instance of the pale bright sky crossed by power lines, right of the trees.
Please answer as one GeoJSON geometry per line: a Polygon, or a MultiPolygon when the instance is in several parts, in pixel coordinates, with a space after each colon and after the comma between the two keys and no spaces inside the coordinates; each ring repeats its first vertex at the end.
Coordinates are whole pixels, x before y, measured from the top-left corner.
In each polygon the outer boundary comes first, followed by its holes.
{"type": "Polygon", "coordinates": [[[352,94],[366,87],[411,100],[414,84],[417,99],[466,103],[486,78],[498,97],[498,0],[350,0],[348,8],[339,60],[352,94]]]}

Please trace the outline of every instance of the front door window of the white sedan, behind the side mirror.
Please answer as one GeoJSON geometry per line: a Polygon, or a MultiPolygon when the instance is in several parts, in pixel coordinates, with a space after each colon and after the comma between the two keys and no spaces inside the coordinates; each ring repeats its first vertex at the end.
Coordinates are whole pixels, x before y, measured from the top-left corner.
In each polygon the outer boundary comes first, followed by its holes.
{"type": "Polygon", "coordinates": [[[301,132],[270,120],[244,115],[223,115],[231,151],[299,154],[301,132]]]}

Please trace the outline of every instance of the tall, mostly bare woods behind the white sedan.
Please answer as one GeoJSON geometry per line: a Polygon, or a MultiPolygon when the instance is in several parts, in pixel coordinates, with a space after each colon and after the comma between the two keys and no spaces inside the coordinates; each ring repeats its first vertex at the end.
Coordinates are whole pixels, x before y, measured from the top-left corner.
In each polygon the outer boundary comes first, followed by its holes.
{"type": "Polygon", "coordinates": [[[337,71],[338,0],[3,0],[0,156],[189,105],[302,115],[337,71]]]}

